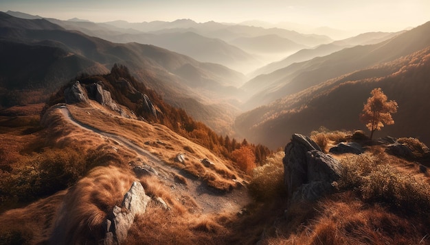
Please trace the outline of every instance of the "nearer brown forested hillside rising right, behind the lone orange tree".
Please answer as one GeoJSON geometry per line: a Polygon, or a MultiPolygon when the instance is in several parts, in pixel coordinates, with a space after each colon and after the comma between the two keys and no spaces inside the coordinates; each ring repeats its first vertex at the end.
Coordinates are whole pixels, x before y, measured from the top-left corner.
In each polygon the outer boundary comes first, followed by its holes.
{"type": "Polygon", "coordinates": [[[397,101],[394,125],[377,135],[413,136],[430,142],[426,102],[430,91],[430,48],[400,57],[393,62],[358,70],[284,97],[270,105],[242,114],[236,129],[253,142],[272,148],[285,144],[292,132],[310,133],[329,129],[365,129],[359,121],[373,88],[382,88],[397,101]]]}

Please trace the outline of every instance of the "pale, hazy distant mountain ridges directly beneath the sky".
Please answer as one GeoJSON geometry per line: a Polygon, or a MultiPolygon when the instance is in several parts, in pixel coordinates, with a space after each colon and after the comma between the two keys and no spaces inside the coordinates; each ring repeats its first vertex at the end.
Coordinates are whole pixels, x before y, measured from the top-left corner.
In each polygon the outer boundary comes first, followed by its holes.
{"type": "MultiPolygon", "coordinates": [[[[19,12],[8,12],[20,18],[41,18],[19,12]]],[[[82,31],[111,42],[153,44],[193,57],[201,62],[223,64],[249,73],[264,64],[279,60],[304,47],[315,47],[332,40],[327,36],[299,34],[279,28],[262,28],[233,23],[196,23],[189,19],[172,22],[128,23],[111,21],[48,21],[65,29],[82,31]]]]}

